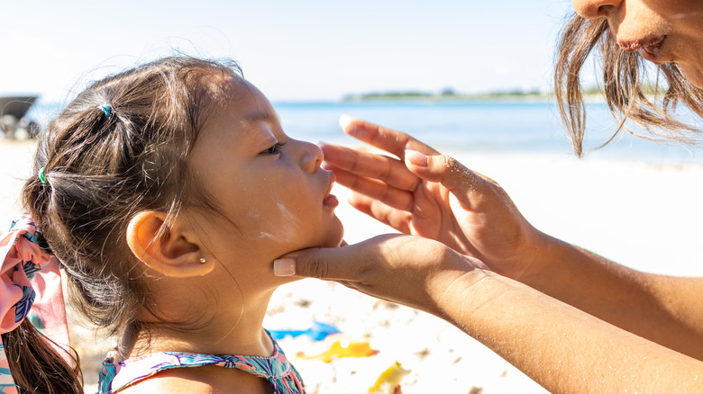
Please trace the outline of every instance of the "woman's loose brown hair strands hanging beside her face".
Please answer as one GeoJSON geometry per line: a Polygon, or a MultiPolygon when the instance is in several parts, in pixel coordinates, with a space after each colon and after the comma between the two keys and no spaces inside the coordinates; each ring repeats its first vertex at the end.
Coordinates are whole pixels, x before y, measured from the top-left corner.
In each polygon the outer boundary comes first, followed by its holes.
{"type": "Polygon", "coordinates": [[[606,18],[589,20],[574,13],[571,22],[561,30],[557,48],[554,92],[561,120],[578,156],[583,152],[586,130],[580,71],[594,48],[600,49],[607,105],[620,122],[613,138],[620,130],[625,130],[644,139],[673,139],[684,143],[695,143],[700,139],[698,128],[676,120],[671,112],[677,103],[683,103],[695,115],[703,117],[703,106],[700,105],[703,91],[691,85],[675,63],[658,66],[654,85],[647,85],[646,60],[635,52],[625,52],[618,47],[606,18]],[[660,85],[660,76],[663,76],[665,85],[660,85]],[[647,134],[626,129],[625,120],[642,126],[647,134]]]}

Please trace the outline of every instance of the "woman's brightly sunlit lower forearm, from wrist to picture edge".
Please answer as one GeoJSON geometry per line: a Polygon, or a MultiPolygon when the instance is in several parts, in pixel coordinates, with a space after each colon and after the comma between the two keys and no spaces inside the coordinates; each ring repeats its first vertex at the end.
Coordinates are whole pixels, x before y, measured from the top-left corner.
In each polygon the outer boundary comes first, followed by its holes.
{"type": "Polygon", "coordinates": [[[439,316],[552,392],[703,390],[698,360],[494,273],[466,273],[438,299],[439,316]]]}

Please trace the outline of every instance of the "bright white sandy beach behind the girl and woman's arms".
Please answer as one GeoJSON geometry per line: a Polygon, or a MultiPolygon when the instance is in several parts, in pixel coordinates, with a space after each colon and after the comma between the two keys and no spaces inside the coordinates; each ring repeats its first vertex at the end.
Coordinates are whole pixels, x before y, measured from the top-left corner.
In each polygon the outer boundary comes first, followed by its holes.
{"type": "MultiPolygon", "coordinates": [[[[0,140],[0,223],[18,212],[19,188],[29,175],[31,141],[0,140]]],[[[448,152],[481,174],[498,180],[535,227],[653,273],[703,275],[703,166],[645,163],[568,156],[487,156],[448,152]]],[[[354,243],[390,230],[344,203],[335,186],[346,239],[354,243]]],[[[4,225],[5,228],[5,225],[4,225]]],[[[281,287],[269,306],[265,327],[310,327],[321,321],[347,338],[368,341],[378,354],[323,363],[297,354],[317,354],[324,343],[306,337],[279,343],[303,375],[311,393],[365,393],[396,361],[411,372],[405,394],[539,393],[544,390],[458,329],[413,309],[371,299],[332,282],[304,280],[281,287]]],[[[75,324],[78,326],[78,324],[75,324]]],[[[109,341],[74,327],[73,345],[83,360],[87,392],[95,392],[96,368],[109,341]]]]}

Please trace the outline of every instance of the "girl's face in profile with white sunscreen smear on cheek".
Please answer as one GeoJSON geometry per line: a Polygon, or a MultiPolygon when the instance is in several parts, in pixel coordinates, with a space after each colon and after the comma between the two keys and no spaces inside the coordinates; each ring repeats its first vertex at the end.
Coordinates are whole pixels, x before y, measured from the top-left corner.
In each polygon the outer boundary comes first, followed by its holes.
{"type": "MultiPolygon", "coordinates": [[[[342,223],[330,194],[334,175],[320,167],[322,150],[289,138],[256,87],[234,78],[230,84],[224,109],[207,122],[190,157],[222,215],[198,217],[205,254],[223,264],[268,261],[264,269],[272,274],[272,261],[280,255],[339,246],[342,223]]],[[[240,269],[248,268],[237,265],[240,269]]]]}

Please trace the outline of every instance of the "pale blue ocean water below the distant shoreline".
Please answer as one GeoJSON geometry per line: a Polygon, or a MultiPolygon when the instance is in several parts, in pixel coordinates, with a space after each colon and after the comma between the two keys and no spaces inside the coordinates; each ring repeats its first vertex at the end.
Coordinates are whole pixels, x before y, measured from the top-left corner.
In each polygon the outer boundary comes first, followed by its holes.
{"type": "MultiPolygon", "coordinates": [[[[549,101],[487,102],[324,102],[273,103],[284,130],[295,139],[355,144],[342,133],[342,113],[402,130],[440,151],[477,154],[573,155],[556,104],[549,101]]],[[[59,111],[39,102],[30,116],[45,124],[59,111]]],[[[625,132],[605,148],[616,121],[605,103],[587,106],[586,157],[644,161],[653,164],[703,164],[703,147],[657,143],[625,132]]],[[[636,129],[635,129],[636,130],[636,129]]]]}

